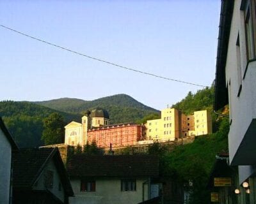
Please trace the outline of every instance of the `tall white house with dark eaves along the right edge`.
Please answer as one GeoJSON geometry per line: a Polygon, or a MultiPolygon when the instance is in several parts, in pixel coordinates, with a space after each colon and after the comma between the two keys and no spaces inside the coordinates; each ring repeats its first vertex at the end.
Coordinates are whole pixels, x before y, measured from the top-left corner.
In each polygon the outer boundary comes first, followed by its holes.
{"type": "Polygon", "coordinates": [[[246,186],[239,196],[241,203],[256,203],[255,3],[222,1],[216,62],[214,110],[229,105],[229,162],[238,166],[238,184],[246,186]]]}

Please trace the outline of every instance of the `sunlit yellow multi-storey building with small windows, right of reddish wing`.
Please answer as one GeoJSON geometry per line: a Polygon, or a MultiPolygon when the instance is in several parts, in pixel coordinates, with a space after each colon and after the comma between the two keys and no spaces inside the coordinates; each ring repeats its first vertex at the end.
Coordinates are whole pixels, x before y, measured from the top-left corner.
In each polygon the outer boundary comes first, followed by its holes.
{"type": "Polygon", "coordinates": [[[158,142],[173,141],[185,136],[207,135],[212,133],[211,114],[207,110],[185,115],[181,110],[166,108],[161,110],[161,118],[147,120],[146,140],[158,142]]]}

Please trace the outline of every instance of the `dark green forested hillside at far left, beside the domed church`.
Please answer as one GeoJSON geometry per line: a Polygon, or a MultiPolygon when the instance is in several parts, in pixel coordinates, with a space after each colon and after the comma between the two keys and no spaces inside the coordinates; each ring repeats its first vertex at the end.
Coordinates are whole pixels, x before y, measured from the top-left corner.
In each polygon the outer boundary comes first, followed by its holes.
{"type": "MultiPolygon", "coordinates": [[[[19,147],[38,147],[43,131],[43,119],[51,113],[58,112],[51,108],[29,102],[1,101],[0,116],[12,133],[19,147]]],[[[68,123],[79,120],[81,115],[58,112],[68,123]]]]}

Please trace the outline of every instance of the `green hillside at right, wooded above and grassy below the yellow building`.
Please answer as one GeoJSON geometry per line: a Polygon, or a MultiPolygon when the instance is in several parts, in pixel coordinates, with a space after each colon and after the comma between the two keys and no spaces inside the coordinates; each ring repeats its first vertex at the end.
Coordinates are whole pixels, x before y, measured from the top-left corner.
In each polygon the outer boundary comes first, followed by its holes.
{"type": "MultiPolygon", "coordinates": [[[[206,87],[195,94],[188,92],[186,98],[173,105],[186,114],[196,110],[207,109],[212,113],[212,127],[214,133],[198,136],[193,143],[175,147],[172,152],[161,155],[163,174],[172,175],[183,184],[191,180],[191,204],[209,203],[209,192],[206,185],[212,166],[216,161],[216,154],[228,152],[228,117],[221,117],[212,112],[214,101],[214,87],[206,87]]],[[[228,107],[223,113],[228,115],[228,107]]]]}

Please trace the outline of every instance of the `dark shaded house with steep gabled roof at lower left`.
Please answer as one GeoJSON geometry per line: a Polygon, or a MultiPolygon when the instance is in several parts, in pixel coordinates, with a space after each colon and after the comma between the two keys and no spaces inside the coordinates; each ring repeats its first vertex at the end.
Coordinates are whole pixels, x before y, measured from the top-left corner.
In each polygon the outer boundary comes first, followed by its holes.
{"type": "Polygon", "coordinates": [[[57,148],[13,152],[13,203],[68,203],[73,196],[57,148]]]}

